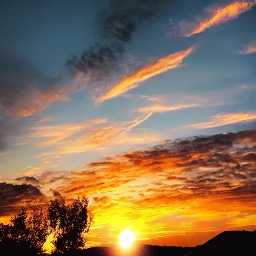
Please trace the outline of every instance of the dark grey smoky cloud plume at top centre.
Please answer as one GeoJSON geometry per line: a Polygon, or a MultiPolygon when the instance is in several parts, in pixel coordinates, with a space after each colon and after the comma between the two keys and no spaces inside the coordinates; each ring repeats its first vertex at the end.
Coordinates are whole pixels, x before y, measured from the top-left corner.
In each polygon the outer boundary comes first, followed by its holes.
{"type": "Polygon", "coordinates": [[[174,2],[173,0],[113,1],[108,8],[99,11],[98,15],[102,37],[107,44],[93,46],[85,50],[80,57],[69,59],[67,61],[69,70],[72,70],[72,73],[89,74],[93,83],[103,80],[103,86],[106,86],[106,77],[121,72],[126,44],[132,42],[138,27],[157,15],[164,4],[174,2]],[[95,73],[93,77],[91,77],[92,73],[95,73]]]}

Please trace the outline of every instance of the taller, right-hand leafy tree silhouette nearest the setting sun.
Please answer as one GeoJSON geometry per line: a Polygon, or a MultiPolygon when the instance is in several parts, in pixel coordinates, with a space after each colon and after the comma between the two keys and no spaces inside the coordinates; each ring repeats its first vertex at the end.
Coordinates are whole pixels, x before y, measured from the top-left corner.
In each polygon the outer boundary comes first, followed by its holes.
{"type": "Polygon", "coordinates": [[[88,198],[75,199],[66,205],[65,198],[50,201],[48,208],[49,226],[54,234],[55,254],[84,248],[84,234],[89,232],[92,215],[88,212],[88,198]]]}

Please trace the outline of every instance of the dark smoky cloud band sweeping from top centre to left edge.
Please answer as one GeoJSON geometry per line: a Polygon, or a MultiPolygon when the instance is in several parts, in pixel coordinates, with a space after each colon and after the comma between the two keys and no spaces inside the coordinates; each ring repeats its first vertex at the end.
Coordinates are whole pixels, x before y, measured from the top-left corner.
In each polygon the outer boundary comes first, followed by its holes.
{"type": "Polygon", "coordinates": [[[68,73],[55,78],[36,70],[29,59],[18,59],[0,49],[1,77],[0,106],[5,114],[27,117],[50,107],[54,102],[70,100],[68,95],[83,89],[97,91],[106,80],[119,73],[124,63],[125,45],[132,41],[134,32],[144,21],[159,13],[163,0],[111,1],[108,8],[99,12],[98,29],[101,41],[85,50],[79,57],[67,61],[68,73]],[[69,77],[71,74],[71,77],[69,77]],[[68,75],[68,77],[67,77],[68,75]]]}

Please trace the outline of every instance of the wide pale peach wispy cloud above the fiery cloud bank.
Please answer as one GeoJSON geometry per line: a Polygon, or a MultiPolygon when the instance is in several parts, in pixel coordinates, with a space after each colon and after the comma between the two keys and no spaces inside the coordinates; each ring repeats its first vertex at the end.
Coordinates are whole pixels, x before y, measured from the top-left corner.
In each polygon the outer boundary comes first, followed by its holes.
{"type": "Polygon", "coordinates": [[[44,152],[42,156],[75,154],[89,150],[100,151],[118,145],[150,144],[161,140],[156,132],[150,130],[131,132],[131,130],[151,116],[152,113],[147,113],[123,122],[95,119],[77,124],[33,127],[28,138],[36,145],[52,146],[53,151],[44,152]]]}

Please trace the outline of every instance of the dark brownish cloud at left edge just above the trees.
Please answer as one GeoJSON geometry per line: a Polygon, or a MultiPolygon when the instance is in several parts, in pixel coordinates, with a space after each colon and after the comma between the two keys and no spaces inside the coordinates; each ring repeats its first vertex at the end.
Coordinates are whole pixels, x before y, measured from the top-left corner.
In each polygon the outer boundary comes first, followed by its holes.
{"type": "Polygon", "coordinates": [[[0,216],[15,214],[18,207],[31,206],[43,199],[44,195],[32,185],[0,183],[0,216]]]}

